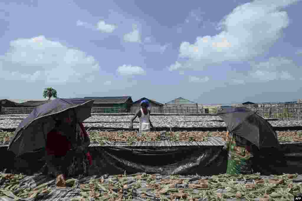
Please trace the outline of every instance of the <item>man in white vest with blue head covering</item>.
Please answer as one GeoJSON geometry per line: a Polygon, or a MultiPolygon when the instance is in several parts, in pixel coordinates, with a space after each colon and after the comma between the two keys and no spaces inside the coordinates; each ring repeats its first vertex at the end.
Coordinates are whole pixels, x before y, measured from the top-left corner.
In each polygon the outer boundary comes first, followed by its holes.
{"type": "Polygon", "coordinates": [[[140,106],[142,107],[137,113],[134,115],[134,117],[130,121],[130,129],[133,129],[133,120],[135,118],[139,118],[140,122],[140,133],[142,132],[148,132],[151,128],[153,128],[153,125],[150,121],[150,110],[148,109],[149,101],[143,100],[140,102],[140,106]]]}

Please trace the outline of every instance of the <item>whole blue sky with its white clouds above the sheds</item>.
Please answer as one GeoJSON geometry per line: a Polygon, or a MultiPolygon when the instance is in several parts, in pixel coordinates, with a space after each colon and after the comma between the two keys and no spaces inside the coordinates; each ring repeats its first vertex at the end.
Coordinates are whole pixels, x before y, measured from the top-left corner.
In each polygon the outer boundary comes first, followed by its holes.
{"type": "Polygon", "coordinates": [[[0,99],[302,98],[297,0],[2,1],[0,99]]]}

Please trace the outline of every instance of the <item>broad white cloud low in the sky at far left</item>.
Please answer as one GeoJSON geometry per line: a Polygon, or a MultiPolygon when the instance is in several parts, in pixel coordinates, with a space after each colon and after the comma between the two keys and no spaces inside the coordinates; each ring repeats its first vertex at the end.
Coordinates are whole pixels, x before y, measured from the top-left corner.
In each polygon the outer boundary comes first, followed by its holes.
{"type": "Polygon", "coordinates": [[[44,36],[17,39],[0,56],[0,77],[6,80],[80,82],[100,69],[93,56],[44,36]]]}

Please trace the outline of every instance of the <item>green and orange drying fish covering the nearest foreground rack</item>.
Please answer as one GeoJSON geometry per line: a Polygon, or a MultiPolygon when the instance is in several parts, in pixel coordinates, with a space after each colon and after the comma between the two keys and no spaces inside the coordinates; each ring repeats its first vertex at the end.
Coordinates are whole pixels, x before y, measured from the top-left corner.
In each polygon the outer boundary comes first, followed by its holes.
{"type": "MultiPolygon", "coordinates": [[[[56,188],[50,186],[54,180],[41,184],[35,189],[22,187],[22,181],[18,175],[6,177],[2,186],[6,190],[0,190],[0,200],[29,200],[49,194],[56,188]],[[20,185],[15,185],[17,177],[20,185]],[[11,178],[8,179],[8,178],[11,178]],[[29,196],[29,197],[26,197],[29,196]],[[20,199],[24,198],[24,199],[20,199]]],[[[127,175],[94,175],[79,179],[68,178],[70,189],[78,192],[72,196],[69,193],[62,194],[61,200],[89,201],[89,200],[293,200],[294,196],[302,193],[301,175],[283,174],[261,176],[260,174],[227,175],[220,174],[212,177],[199,175],[161,175],[137,173],[127,175]]],[[[62,190],[64,187],[60,187],[62,190]]],[[[56,196],[60,198],[60,196],[56,196]]],[[[47,199],[54,199],[53,194],[47,199]]]]}

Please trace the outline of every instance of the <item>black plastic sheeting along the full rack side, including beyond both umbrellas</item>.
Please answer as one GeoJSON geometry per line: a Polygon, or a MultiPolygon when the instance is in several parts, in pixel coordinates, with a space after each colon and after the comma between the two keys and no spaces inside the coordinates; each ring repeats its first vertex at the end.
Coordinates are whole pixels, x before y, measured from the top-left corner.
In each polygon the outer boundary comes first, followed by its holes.
{"type": "MultiPolygon", "coordinates": [[[[174,147],[88,147],[92,155],[89,175],[94,174],[199,174],[214,175],[226,172],[227,152],[222,146],[174,146],[174,147]]],[[[33,174],[45,163],[44,150],[14,157],[6,147],[0,153],[8,156],[2,159],[0,169],[8,172],[33,174]]],[[[273,149],[255,153],[254,172],[261,174],[302,174],[302,143],[281,144],[281,151],[273,149]],[[281,159],[284,159],[282,163],[281,159]]]]}

